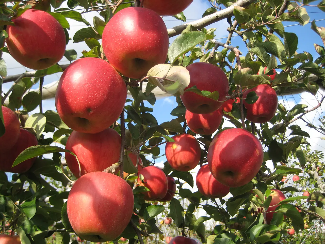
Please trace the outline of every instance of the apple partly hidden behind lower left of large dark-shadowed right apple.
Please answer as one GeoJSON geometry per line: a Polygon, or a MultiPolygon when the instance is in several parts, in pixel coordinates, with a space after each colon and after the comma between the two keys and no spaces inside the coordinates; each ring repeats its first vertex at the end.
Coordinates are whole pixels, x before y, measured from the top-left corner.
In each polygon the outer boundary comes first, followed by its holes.
{"type": "Polygon", "coordinates": [[[209,166],[203,165],[196,175],[196,186],[205,197],[222,198],[225,197],[230,187],[218,182],[209,169],[209,166]]]}

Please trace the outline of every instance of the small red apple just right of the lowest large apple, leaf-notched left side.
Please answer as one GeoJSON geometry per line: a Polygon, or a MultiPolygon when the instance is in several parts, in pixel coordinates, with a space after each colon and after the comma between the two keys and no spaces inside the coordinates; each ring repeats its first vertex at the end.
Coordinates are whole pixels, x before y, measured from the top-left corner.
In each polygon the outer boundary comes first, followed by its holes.
{"type": "Polygon", "coordinates": [[[148,166],[141,169],[138,172],[138,185],[147,187],[150,191],[143,192],[144,199],[147,201],[155,201],[161,199],[166,196],[168,189],[167,177],[161,169],[155,166],[148,166]],[[144,179],[140,180],[140,175],[144,177],[144,179]]]}

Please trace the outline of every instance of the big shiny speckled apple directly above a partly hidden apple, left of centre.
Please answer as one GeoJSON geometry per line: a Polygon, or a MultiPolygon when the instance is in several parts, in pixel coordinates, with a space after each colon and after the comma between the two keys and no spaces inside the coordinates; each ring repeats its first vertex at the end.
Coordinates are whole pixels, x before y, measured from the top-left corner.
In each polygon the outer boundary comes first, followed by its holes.
{"type": "Polygon", "coordinates": [[[55,95],[55,106],[71,129],[98,133],[120,116],[126,100],[126,85],[106,61],[82,58],[63,72],[55,95]]]}

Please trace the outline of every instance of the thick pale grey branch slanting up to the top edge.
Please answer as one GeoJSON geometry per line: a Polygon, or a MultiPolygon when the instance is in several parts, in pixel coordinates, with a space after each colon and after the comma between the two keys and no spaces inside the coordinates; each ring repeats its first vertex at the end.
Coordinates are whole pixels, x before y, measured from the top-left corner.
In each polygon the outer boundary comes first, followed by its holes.
{"type": "Polygon", "coordinates": [[[214,22],[217,22],[219,20],[223,20],[228,18],[229,16],[233,15],[234,7],[235,6],[240,6],[240,7],[246,7],[250,5],[251,3],[256,2],[256,0],[239,0],[230,7],[227,7],[223,10],[220,10],[218,12],[215,12],[213,14],[210,14],[208,16],[205,16],[204,18],[200,20],[195,20],[192,22],[188,22],[182,25],[175,26],[171,29],[168,29],[168,35],[169,37],[181,34],[183,30],[188,25],[192,25],[193,27],[197,28],[198,30],[201,30],[203,27],[208,26],[209,24],[212,24],[214,22]]]}

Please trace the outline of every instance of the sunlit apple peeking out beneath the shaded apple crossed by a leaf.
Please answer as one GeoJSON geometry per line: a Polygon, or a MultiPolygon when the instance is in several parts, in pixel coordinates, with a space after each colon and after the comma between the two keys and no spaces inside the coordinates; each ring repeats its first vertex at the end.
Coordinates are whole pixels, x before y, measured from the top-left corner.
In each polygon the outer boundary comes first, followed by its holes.
{"type": "Polygon", "coordinates": [[[218,129],[222,121],[222,110],[219,108],[209,114],[193,114],[186,110],[185,119],[191,131],[201,135],[211,135],[218,129]]]}

